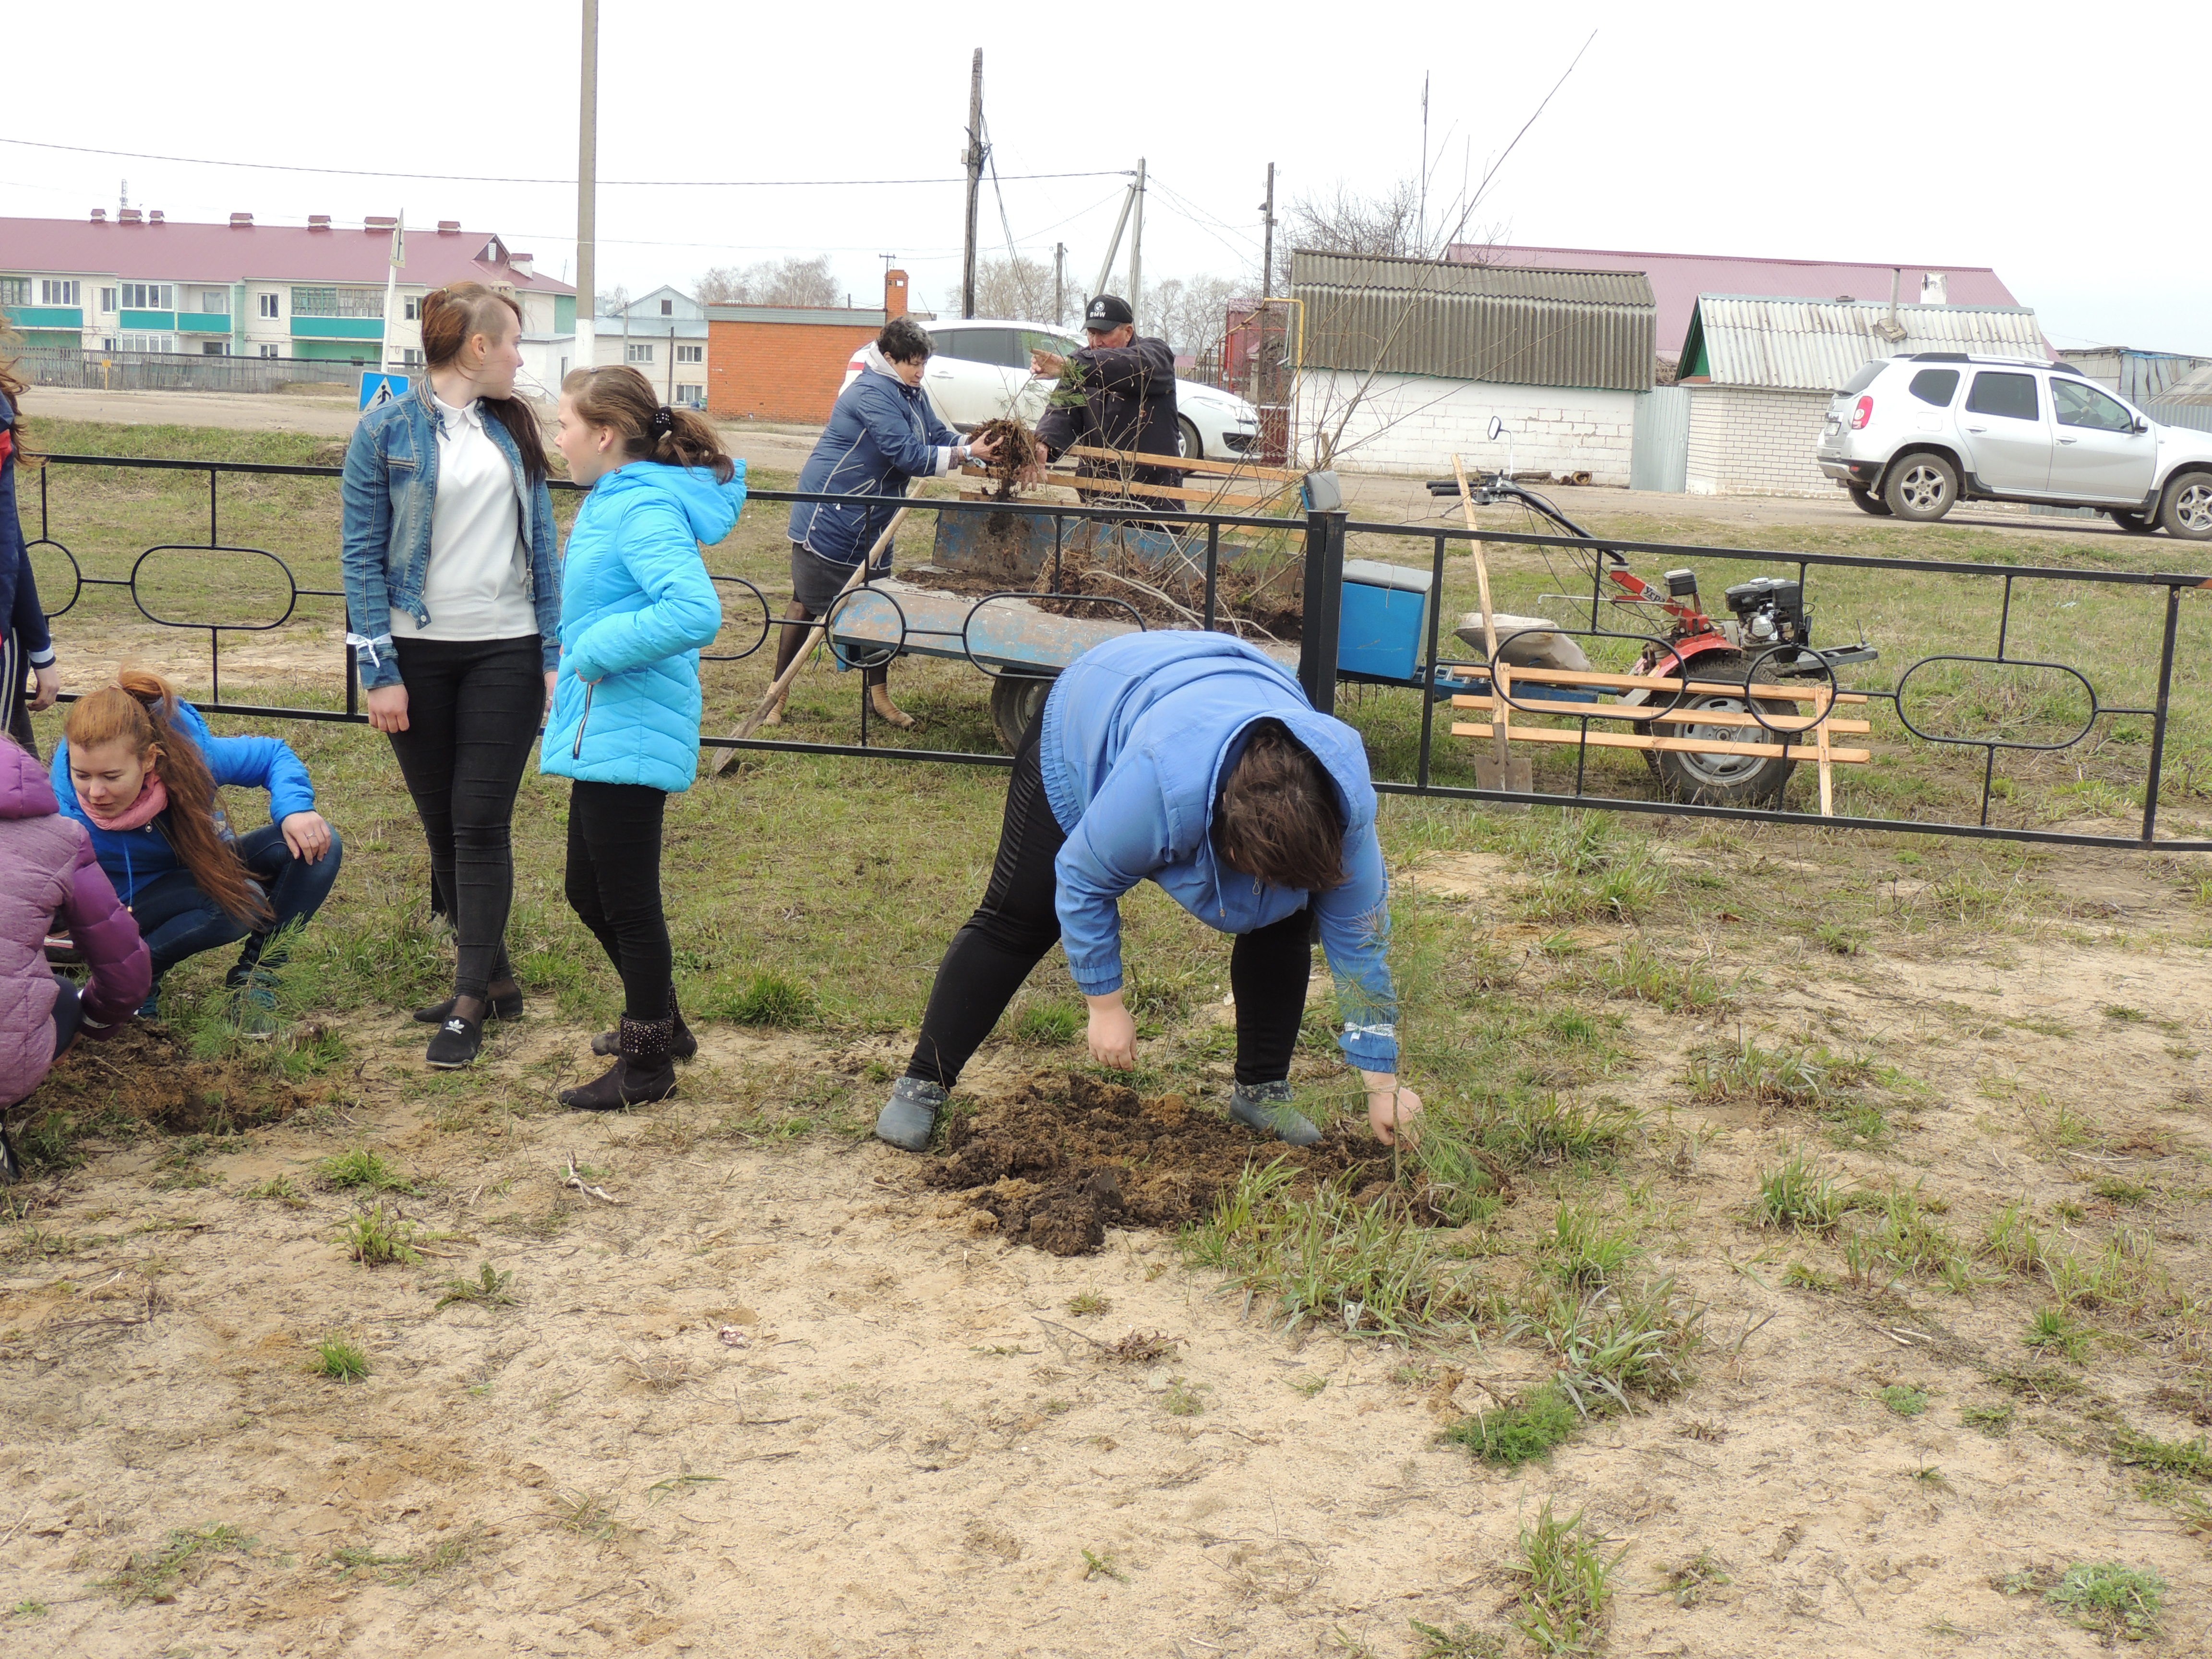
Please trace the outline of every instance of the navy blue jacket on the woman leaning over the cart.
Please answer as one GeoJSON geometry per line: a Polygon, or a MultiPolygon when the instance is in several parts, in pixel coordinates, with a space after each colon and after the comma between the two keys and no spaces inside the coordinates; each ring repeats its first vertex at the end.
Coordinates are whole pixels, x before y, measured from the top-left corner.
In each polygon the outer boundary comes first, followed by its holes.
{"type": "MultiPolygon", "coordinates": [[[[799,489],[816,495],[905,495],[914,478],[951,471],[960,434],[938,420],[929,394],[891,372],[874,345],[867,367],[838,394],[821,442],[799,471],[799,489]]],[[[832,564],[858,564],[891,522],[896,507],[799,502],[792,540],[832,564]]],[[[878,562],[887,568],[889,549],[878,562]]]]}

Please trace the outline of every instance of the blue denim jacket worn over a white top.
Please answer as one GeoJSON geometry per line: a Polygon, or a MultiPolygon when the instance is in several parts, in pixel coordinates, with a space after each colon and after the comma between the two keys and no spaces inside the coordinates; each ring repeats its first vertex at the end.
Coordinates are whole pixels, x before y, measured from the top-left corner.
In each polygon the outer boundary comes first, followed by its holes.
{"type": "MultiPolygon", "coordinates": [[[[560,575],[553,568],[553,491],[529,484],[522,451],[498,418],[484,431],[515,471],[522,504],[522,535],[531,546],[529,593],[544,639],[544,666],[560,668],[560,575]]],[[[429,376],[418,374],[405,398],[369,409],[345,447],[345,564],[347,644],[361,657],[361,686],[398,686],[400,666],[392,653],[392,608],[398,606],[429,626],[422,608],[422,577],[429,573],[429,522],[438,500],[438,409],[429,376]]]]}

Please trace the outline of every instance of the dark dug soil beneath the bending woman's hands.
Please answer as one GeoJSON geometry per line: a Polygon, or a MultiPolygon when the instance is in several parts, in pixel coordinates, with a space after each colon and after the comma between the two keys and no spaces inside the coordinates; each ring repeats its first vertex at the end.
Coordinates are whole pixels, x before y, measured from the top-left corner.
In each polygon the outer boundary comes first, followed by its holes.
{"type": "Polygon", "coordinates": [[[1055,1256],[1106,1243],[1106,1228],[1179,1228],[1212,1214],[1248,1164],[1283,1159],[1298,1186],[1343,1179],[1356,1194],[1389,1190],[1389,1148],[1332,1128],[1292,1148],[1194,1108],[1181,1095],[1082,1073],[1040,1073],[1009,1099],[956,1110],[931,1186],[964,1192],[1009,1239],[1055,1256]]]}

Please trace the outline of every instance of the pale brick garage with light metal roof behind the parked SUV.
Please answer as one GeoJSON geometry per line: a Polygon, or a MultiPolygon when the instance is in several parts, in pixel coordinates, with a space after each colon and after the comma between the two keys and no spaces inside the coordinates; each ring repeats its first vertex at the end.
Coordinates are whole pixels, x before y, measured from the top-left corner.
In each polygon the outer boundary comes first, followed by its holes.
{"type": "Polygon", "coordinates": [[[1867,363],[1911,352],[2046,361],[2024,305],[1699,294],[1681,347],[1692,495],[1834,495],[1814,462],[1827,400],[1867,363]]]}

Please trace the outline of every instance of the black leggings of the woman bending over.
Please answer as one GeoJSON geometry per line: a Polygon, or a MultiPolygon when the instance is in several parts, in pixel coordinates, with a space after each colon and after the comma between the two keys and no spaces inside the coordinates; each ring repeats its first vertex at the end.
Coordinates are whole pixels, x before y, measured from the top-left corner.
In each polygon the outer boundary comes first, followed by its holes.
{"type": "MultiPolygon", "coordinates": [[[[914,1044],[907,1075],[951,1088],[969,1055],[1013,1002],[1029,971],[1060,942],[1053,860],[1066,836],[1044,799],[1037,765],[1037,728],[1031,721],[1006,785],[1006,821],[982,905],[953,933],[938,967],[914,1044]]],[[[1314,971],[1312,911],[1239,933],[1230,949],[1230,991],[1237,995],[1237,1082],[1276,1084],[1290,1077],[1305,1018],[1305,982],[1314,971]]]]}

